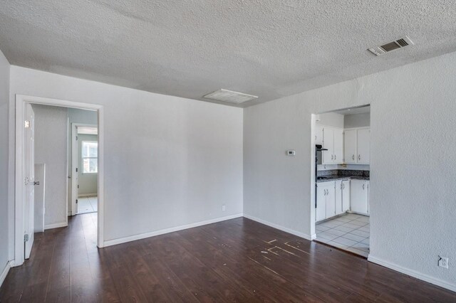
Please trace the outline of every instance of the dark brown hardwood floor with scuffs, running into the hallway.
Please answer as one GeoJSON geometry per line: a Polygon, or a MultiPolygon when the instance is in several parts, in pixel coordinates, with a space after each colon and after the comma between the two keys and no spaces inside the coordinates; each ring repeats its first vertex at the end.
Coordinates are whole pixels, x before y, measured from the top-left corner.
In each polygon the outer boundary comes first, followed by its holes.
{"type": "Polygon", "coordinates": [[[456,302],[456,293],[246,218],[96,248],[96,213],[36,234],[1,302],[456,302]]]}

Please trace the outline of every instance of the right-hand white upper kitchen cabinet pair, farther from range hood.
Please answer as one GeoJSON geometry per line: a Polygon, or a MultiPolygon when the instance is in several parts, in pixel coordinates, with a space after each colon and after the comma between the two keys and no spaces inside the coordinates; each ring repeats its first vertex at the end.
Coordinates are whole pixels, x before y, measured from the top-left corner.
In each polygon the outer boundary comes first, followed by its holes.
{"type": "Polygon", "coordinates": [[[369,164],[371,129],[348,129],[343,134],[343,161],[346,164],[369,164]]]}

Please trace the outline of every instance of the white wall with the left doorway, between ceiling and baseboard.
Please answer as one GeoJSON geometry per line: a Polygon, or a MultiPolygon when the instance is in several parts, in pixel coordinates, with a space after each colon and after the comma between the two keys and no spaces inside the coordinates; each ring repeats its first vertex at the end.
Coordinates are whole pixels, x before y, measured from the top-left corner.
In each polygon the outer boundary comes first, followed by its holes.
{"type": "Polygon", "coordinates": [[[14,94],[104,106],[105,240],[242,213],[242,109],[12,66],[14,94]]]}

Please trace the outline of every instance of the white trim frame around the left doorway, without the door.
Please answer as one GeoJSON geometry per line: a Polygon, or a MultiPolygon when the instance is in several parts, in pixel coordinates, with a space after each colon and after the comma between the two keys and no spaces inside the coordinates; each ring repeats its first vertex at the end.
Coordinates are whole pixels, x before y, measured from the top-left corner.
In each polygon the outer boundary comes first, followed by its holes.
{"type": "MultiPolygon", "coordinates": [[[[24,263],[24,110],[26,103],[51,105],[58,107],[71,107],[81,110],[93,110],[98,113],[98,225],[97,246],[103,248],[104,238],[104,163],[103,163],[103,106],[90,103],[73,102],[67,100],[51,99],[46,97],[33,97],[16,95],[16,152],[15,152],[15,206],[14,206],[14,266],[24,263]]],[[[68,188],[68,186],[67,186],[68,188]]],[[[68,207],[68,201],[66,200],[68,207]]],[[[68,216],[68,213],[67,213],[68,216]]]]}

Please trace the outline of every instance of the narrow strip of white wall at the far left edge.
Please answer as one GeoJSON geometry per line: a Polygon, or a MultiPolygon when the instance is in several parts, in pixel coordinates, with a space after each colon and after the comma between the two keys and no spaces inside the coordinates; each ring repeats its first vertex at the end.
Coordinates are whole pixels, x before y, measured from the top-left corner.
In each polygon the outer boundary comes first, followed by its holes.
{"type": "Polygon", "coordinates": [[[9,62],[0,51],[0,274],[9,260],[10,219],[8,200],[8,100],[9,62]]]}

